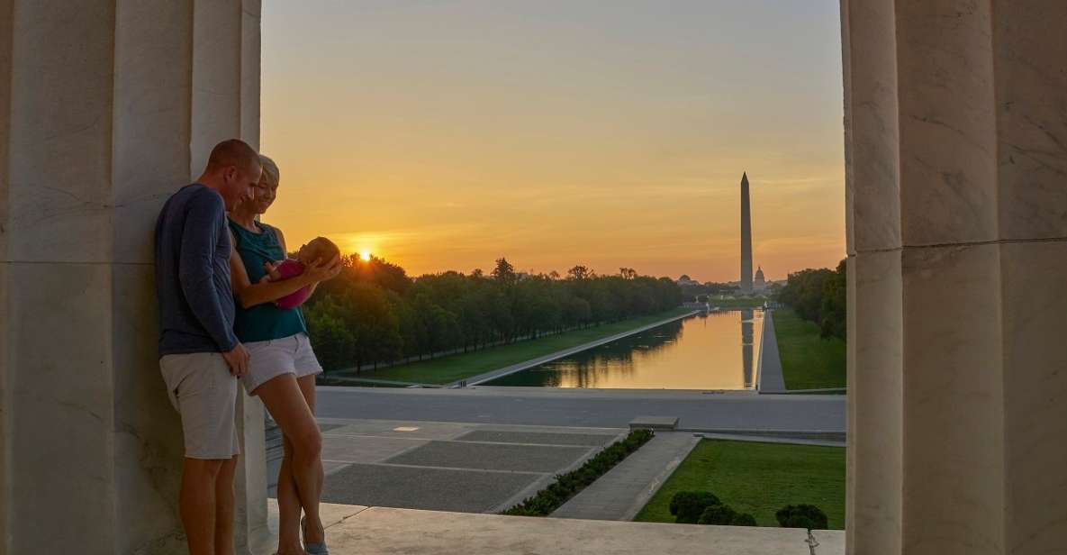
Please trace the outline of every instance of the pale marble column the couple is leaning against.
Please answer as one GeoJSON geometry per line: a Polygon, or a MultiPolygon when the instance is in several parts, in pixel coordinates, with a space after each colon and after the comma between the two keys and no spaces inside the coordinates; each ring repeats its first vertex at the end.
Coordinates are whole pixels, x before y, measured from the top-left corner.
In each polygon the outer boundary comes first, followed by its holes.
{"type": "MultiPolygon", "coordinates": [[[[152,231],[214,142],[258,140],[258,14],[0,0],[0,552],[185,552],[152,231]]],[[[242,406],[238,505],[265,518],[242,406]]],[[[242,545],[266,534],[241,524],[242,545]]]]}

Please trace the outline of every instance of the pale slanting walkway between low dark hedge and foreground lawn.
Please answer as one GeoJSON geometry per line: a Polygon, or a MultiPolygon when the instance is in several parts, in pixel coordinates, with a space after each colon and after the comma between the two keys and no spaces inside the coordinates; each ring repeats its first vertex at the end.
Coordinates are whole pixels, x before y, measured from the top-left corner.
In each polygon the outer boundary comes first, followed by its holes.
{"type": "Polygon", "coordinates": [[[649,443],[552,513],[557,519],[630,521],[700,442],[691,432],[656,432],[649,443]]]}

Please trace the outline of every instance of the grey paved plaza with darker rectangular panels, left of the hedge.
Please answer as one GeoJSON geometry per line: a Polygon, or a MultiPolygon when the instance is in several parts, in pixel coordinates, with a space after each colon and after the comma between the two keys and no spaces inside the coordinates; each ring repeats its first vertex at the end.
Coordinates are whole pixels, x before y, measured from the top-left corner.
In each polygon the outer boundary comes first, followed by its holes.
{"type": "Polygon", "coordinates": [[[508,508],[626,433],[338,418],[320,425],[324,502],[467,512],[508,508]]]}

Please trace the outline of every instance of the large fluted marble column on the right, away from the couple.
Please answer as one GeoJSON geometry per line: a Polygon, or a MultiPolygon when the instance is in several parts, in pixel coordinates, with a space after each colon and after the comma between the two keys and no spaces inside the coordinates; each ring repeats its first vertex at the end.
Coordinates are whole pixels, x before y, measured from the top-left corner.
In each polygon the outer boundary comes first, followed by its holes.
{"type": "Polygon", "coordinates": [[[1064,21],[842,1],[849,553],[1067,545],[1064,21]]]}

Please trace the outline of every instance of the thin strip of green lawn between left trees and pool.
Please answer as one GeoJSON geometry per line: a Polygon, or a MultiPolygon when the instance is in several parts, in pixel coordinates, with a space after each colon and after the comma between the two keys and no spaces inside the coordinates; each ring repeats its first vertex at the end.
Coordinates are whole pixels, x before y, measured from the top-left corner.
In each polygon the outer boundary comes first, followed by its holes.
{"type": "MultiPolygon", "coordinates": [[[[378,370],[364,370],[362,378],[379,380],[396,380],[414,383],[444,384],[462,380],[487,371],[519,364],[523,361],[537,359],[562,349],[594,342],[602,337],[615,335],[634,328],[640,328],[671,316],[692,312],[689,308],[675,308],[653,316],[642,316],[626,320],[606,323],[585,330],[571,330],[559,335],[550,335],[538,339],[523,340],[511,345],[491,347],[481,351],[450,354],[440,359],[414,362],[402,366],[392,366],[378,370]]],[[[334,374],[334,372],[331,372],[334,374]]],[[[336,372],[340,376],[355,376],[351,372],[336,372]]]]}

